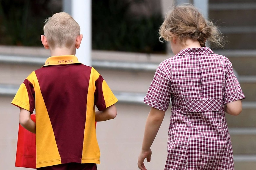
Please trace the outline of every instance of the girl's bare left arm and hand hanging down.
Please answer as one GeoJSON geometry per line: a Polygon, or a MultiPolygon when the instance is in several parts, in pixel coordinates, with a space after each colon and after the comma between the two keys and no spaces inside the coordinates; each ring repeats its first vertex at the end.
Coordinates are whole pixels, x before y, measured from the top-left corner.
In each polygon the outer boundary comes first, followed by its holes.
{"type": "Polygon", "coordinates": [[[144,160],[147,158],[147,161],[150,162],[151,157],[151,145],[157,135],[159,127],[162,124],[162,121],[165,116],[165,111],[155,109],[151,107],[146,121],[145,132],[143,137],[143,143],[141,147],[141,152],[138,157],[138,167],[141,170],[146,170],[144,166],[144,160]]]}

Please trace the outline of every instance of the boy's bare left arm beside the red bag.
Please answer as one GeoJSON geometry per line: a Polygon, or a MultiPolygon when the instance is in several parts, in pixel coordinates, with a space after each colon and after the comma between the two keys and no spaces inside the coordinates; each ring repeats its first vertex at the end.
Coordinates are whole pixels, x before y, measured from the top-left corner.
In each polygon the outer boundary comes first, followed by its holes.
{"type": "Polygon", "coordinates": [[[19,122],[22,127],[32,133],[36,133],[36,123],[31,119],[30,112],[26,109],[20,108],[19,122]]]}

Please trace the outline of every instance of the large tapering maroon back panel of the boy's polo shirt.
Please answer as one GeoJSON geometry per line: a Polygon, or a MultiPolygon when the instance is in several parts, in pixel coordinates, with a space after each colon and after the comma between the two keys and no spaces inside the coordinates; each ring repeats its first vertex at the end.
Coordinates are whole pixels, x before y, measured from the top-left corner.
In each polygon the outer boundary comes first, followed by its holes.
{"type": "Polygon", "coordinates": [[[38,69],[41,88],[62,163],[81,163],[91,67],[83,64],[38,69]]]}

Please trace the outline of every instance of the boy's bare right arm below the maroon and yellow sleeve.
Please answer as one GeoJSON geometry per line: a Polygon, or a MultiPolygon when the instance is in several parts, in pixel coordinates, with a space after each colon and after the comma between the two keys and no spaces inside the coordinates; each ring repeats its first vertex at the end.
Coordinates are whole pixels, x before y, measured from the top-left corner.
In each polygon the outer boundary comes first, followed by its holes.
{"type": "Polygon", "coordinates": [[[116,115],[117,115],[116,106],[113,104],[112,106],[109,106],[102,111],[97,110],[95,112],[95,121],[101,122],[109,119],[114,119],[116,115]]]}

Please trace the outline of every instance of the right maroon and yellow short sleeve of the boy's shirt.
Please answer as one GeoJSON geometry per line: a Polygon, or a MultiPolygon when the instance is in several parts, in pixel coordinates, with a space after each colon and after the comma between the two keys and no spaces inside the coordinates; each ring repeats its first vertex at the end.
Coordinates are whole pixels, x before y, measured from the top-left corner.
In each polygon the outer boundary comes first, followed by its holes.
{"type": "Polygon", "coordinates": [[[99,111],[102,111],[105,108],[115,104],[118,100],[103,77],[94,68],[93,72],[93,77],[95,80],[95,105],[99,111]]]}

